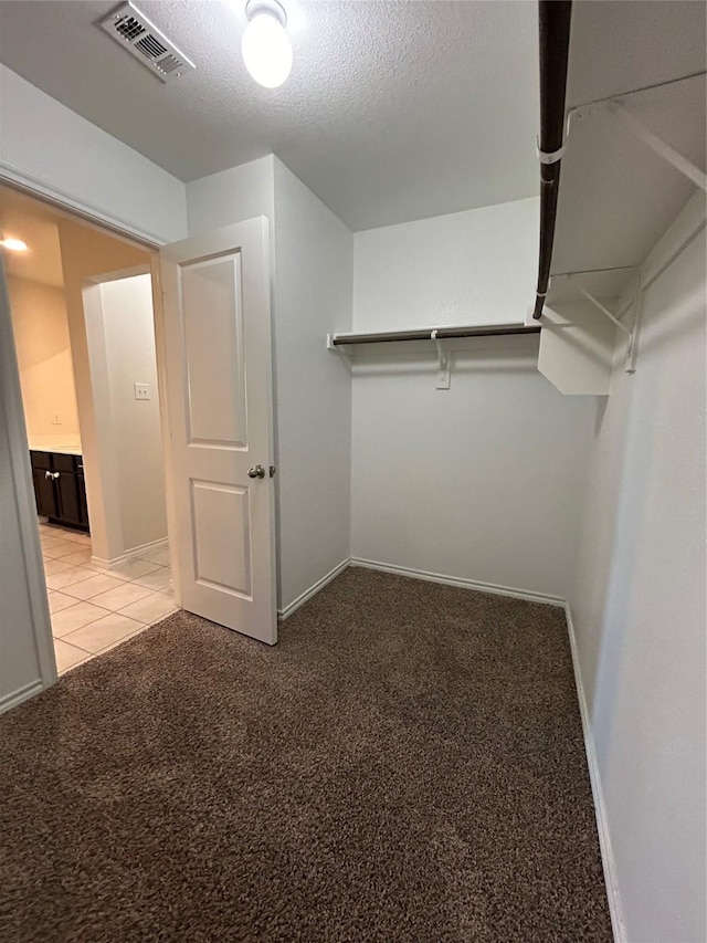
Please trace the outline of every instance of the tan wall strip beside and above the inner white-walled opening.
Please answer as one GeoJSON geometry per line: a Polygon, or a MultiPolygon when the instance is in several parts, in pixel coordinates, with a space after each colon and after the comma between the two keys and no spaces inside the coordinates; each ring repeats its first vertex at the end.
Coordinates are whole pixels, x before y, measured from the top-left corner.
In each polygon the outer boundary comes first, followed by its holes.
{"type": "Polygon", "coordinates": [[[60,222],[59,239],[74,359],[93,552],[94,556],[102,559],[113,559],[120,556],[124,551],[119,501],[116,500],[119,488],[110,463],[102,464],[101,461],[102,454],[110,454],[110,443],[102,441],[107,430],[101,429],[94,410],[83,291],[101,275],[131,270],[136,266],[147,269],[150,254],[68,220],[60,222]],[[107,517],[116,518],[115,526],[106,526],[107,517]],[[109,534],[118,535],[117,543],[109,542],[109,534]]]}

